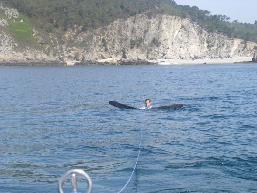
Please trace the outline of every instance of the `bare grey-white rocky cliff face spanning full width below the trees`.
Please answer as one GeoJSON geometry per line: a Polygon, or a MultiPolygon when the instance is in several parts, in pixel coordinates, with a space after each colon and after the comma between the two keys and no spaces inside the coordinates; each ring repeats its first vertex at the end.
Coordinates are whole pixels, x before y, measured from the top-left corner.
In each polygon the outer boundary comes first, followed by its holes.
{"type": "MultiPolygon", "coordinates": [[[[13,9],[3,8],[12,19],[19,17],[13,9]]],[[[20,22],[20,21],[19,21],[20,22]]],[[[77,26],[68,30],[61,40],[49,34],[54,46],[44,45],[37,50],[18,45],[5,32],[9,24],[0,19],[0,61],[83,61],[112,58],[138,59],[193,59],[252,57],[257,44],[241,39],[232,39],[221,33],[209,33],[190,19],[158,15],[149,19],[144,14],[128,19],[118,19],[97,30],[82,32],[77,26]],[[58,42],[64,42],[59,44],[58,42]]],[[[40,30],[34,29],[40,40],[40,30]]]]}

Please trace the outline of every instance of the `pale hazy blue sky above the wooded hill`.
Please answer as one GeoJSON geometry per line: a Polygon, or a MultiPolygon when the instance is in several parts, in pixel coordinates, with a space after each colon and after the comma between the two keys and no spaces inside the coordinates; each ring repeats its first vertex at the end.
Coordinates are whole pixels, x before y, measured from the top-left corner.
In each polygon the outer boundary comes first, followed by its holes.
{"type": "Polygon", "coordinates": [[[179,5],[193,5],[212,15],[226,15],[230,21],[254,23],[257,20],[257,0],[175,0],[179,5]]]}

